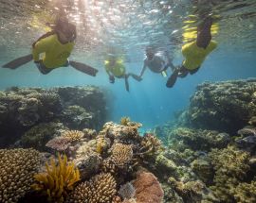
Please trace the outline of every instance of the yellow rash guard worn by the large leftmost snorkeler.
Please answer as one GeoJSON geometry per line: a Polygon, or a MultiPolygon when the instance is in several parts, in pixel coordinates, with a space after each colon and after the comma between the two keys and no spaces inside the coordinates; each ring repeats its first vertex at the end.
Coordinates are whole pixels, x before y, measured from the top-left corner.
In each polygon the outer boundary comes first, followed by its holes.
{"type": "Polygon", "coordinates": [[[44,53],[43,64],[46,68],[59,68],[66,63],[74,47],[74,42],[61,43],[56,34],[50,35],[35,43],[32,54],[33,59],[38,61],[40,54],[44,53]]]}

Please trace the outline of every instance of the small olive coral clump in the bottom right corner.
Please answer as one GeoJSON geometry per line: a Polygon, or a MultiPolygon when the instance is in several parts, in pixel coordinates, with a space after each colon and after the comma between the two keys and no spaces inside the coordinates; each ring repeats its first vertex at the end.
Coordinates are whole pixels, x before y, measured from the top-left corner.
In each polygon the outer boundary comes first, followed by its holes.
{"type": "Polygon", "coordinates": [[[235,200],[238,203],[256,202],[256,181],[240,183],[235,189],[235,200]]]}

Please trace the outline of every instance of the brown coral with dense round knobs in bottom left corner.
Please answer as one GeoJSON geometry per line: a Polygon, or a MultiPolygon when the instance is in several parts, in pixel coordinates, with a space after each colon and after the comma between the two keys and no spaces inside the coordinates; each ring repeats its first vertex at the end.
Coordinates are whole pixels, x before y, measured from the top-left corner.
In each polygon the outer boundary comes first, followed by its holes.
{"type": "Polygon", "coordinates": [[[40,161],[34,149],[0,149],[0,202],[18,202],[30,191],[40,161]]]}

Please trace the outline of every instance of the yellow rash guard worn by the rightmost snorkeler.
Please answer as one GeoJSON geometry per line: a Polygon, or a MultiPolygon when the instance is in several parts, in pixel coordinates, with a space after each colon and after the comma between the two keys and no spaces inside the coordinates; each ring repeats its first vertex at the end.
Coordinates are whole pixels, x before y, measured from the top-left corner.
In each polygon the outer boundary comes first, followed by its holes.
{"type": "Polygon", "coordinates": [[[185,58],[183,66],[188,70],[198,68],[210,54],[210,52],[217,47],[217,42],[210,41],[206,49],[198,47],[196,42],[187,43],[182,46],[182,54],[185,58]]]}

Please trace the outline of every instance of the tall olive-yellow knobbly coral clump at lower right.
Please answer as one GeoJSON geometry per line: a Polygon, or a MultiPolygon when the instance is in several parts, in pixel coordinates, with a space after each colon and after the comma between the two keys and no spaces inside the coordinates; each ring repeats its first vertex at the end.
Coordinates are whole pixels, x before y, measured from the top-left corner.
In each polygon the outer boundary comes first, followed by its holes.
{"type": "Polygon", "coordinates": [[[247,177],[249,154],[234,146],[225,149],[213,149],[210,154],[215,170],[213,194],[224,202],[234,200],[236,186],[247,177]]]}

